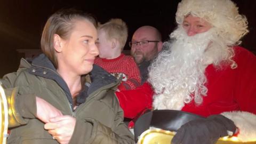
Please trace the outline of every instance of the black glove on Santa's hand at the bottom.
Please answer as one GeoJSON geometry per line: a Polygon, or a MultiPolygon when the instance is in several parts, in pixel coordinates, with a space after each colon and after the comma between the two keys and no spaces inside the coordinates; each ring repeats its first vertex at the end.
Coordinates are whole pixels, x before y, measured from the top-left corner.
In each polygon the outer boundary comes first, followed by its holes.
{"type": "Polygon", "coordinates": [[[183,124],[174,135],[172,144],[213,144],[220,137],[235,134],[236,125],[222,115],[212,115],[206,119],[197,119],[183,124]]]}

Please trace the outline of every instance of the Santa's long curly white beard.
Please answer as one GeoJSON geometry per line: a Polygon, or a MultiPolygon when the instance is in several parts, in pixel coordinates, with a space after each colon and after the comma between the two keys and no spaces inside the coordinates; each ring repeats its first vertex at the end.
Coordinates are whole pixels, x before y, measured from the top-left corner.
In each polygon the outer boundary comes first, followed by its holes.
{"type": "Polygon", "coordinates": [[[148,81],[155,90],[155,109],[178,109],[191,100],[202,103],[207,87],[204,71],[213,61],[205,57],[205,51],[214,35],[212,29],[195,36],[187,36],[180,26],[170,35],[173,41],[164,43],[164,51],[158,54],[149,68],[148,81]],[[210,61],[210,62],[209,62],[210,61]]]}

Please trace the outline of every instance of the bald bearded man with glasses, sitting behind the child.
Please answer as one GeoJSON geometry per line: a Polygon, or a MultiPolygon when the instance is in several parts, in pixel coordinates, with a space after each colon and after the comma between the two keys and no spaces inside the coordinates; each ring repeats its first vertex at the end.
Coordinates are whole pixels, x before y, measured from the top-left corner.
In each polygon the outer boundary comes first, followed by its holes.
{"type": "Polygon", "coordinates": [[[152,26],[142,26],[134,32],[129,45],[131,55],[139,66],[141,84],[143,84],[148,78],[150,61],[162,50],[161,33],[152,26]]]}

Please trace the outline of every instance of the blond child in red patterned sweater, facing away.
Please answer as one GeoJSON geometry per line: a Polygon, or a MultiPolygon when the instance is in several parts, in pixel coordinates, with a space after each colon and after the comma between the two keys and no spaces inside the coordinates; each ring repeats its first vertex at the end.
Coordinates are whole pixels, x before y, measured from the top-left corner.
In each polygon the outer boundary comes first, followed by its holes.
{"type": "Polygon", "coordinates": [[[127,35],[127,26],[121,19],[111,19],[98,27],[99,58],[94,63],[118,79],[122,76],[119,91],[135,89],[141,81],[134,59],[122,53],[127,35]]]}

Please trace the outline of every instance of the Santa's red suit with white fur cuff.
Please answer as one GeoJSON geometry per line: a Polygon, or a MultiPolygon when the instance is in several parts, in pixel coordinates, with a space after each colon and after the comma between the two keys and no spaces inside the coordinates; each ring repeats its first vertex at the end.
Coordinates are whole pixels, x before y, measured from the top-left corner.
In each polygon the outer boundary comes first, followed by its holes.
{"type": "MultiPolygon", "coordinates": [[[[242,47],[233,49],[237,68],[207,66],[207,96],[203,97],[201,105],[197,106],[191,101],[180,110],[205,117],[222,114],[234,121],[240,140],[256,140],[256,57],[242,47]]],[[[145,108],[151,108],[153,93],[148,83],[138,90],[116,92],[124,116],[129,118],[145,108]]]]}

